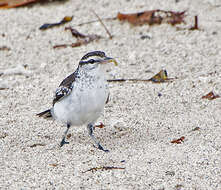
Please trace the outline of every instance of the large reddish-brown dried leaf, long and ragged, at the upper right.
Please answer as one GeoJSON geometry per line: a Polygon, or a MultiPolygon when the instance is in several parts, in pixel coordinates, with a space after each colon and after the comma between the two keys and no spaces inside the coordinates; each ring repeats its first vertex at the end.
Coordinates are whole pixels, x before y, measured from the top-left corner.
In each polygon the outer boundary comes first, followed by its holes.
{"type": "Polygon", "coordinates": [[[117,18],[120,21],[128,21],[132,25],[142,24],[161,24],[168,23],[171,25],[185,23],[185,11],[173,12],[164,10],[151,10],[133,14],[118,13],[117,18]]]}

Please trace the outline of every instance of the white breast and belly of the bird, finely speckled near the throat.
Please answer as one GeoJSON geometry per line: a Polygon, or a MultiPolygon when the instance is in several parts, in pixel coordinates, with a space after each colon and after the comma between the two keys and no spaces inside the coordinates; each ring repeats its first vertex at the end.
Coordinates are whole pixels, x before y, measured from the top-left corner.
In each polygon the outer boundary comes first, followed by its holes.
{"type": "Polygon", "coordinates": [[[73,84],[71,94],[54,105],[53,117],[76,126],[95,122],[109,93],[103,72],[98,68],[86,75],[82,73],[73,84]]]}

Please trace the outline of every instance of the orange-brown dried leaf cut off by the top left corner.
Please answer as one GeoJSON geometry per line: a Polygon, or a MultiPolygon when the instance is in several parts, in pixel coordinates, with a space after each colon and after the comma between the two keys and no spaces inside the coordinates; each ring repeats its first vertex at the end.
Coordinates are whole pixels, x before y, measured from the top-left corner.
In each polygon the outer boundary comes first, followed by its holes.
{"type": "Polygon", "coordinates": [[[0,9],[8,9],[35,3],[40,0],[0,0],[0,9]]]}

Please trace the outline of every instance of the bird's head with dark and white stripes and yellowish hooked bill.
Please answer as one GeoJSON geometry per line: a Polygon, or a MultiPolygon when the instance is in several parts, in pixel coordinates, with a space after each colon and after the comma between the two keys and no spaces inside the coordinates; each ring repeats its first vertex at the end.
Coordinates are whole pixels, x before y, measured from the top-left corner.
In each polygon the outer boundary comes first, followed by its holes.
{"type": "Polygon", "coordinates": [[[99,65],[111,63],[113,62],[115,65],[117,65],[117,62],[114,58],[107,57],[104,52],[102,51],[92,51],[84,55],[80,62],[79,66],[93,69],[97,68],[99,65]]]}

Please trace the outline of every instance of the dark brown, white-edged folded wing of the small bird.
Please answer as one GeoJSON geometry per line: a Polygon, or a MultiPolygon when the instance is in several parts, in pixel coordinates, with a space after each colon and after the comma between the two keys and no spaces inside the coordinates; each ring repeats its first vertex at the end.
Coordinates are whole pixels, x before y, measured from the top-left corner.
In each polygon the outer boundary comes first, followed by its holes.
{"type": "Polygon", "coordinates": [[[56,102],[60,101],[62,98],[68,96],[71,93],[75,78],[76,78],[76,73],[74,72],[61,82],[61,84],[55,91],[53,106],[56,102]]]}

